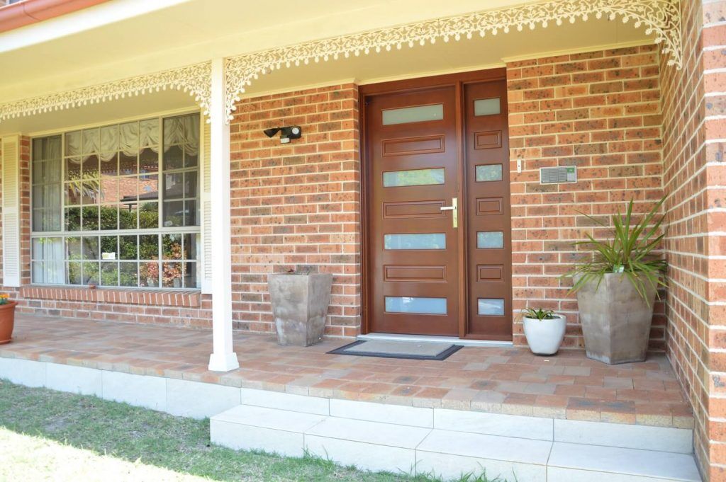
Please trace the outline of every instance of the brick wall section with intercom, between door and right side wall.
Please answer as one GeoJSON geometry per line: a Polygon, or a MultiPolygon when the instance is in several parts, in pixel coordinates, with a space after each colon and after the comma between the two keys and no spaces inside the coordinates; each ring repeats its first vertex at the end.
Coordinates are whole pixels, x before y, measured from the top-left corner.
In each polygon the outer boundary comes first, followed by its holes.
{"type": "MultiPolygon", "coordinates": [[[[566,314],[564,346],[582,346],[571,281],[582,257],[572,243],[596,228],[583,214],[609,216],[635,199],[647,212],[661,198],[661,115],[655,46],[546,57],[507,65],[514,309],[566,314]],[[518,161],[521,173],[518,173],[518,161]],[[577,183],[541,185],[539,168],[577,166],[577,183]]],[[[656,304],[652,349],[664,348],[656,304]]],[[[526,344],[515,322],[515,343],[526,344]]]]}

